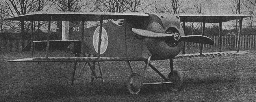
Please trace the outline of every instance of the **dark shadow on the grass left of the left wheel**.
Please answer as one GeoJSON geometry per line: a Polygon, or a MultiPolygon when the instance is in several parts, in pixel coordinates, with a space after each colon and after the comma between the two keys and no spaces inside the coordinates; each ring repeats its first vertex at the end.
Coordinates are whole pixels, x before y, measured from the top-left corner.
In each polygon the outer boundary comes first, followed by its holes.
{"type": "Polygon", "coordinates": [[[32,90],[24,92],[26,99],[54,99],[63,97],[95,96],[95,95],[127,95],[129,94],[124,83],[120,82],[88,82],[86,85],[74,86],[47,85],[30,87],[32,90]]]}

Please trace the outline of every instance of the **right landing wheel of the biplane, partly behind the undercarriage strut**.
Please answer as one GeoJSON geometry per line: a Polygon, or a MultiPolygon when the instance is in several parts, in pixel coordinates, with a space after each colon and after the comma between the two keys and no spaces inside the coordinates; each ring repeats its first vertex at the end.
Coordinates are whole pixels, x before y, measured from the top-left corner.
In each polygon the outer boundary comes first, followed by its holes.
{"type": "Polygon", "coordinates": [[[171,73],[169,73],[168,75],[168,80],[172,81],[174,83],[171,83],[169,86],[169,89],[171,91],[180,91],[180,89],[182,88],[182,77],[180,76],[180,74],[178,73],[178,71],[174,71],[174,78],[171,78],[171,73]]]}

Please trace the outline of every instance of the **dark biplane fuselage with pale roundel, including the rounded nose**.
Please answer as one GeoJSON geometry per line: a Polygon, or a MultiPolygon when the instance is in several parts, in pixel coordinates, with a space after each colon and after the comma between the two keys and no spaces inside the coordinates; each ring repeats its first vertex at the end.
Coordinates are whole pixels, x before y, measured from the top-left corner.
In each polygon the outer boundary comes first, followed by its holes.
{"type": "MultiPolygon", "coordinates": [[[[170,59],[182,50],[183,42],[170,42],[171,38],[145,38],[132,32],[132,28],[156,33],[180,33],[180,19],[176,15],[149,14],[146,20],[125,19],[122,25],[107,22],[102,25],[101,56],[144,57],[151,60],[170,59]]],[[[85,53],[97,55],[99,26],[85,29],[85,53]]]]}

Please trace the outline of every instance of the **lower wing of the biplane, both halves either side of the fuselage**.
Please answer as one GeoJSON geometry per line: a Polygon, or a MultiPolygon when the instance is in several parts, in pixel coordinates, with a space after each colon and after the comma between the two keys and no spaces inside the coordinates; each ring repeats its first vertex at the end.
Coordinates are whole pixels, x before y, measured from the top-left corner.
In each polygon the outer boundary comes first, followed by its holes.
{"type": "MultiPolygon", "coordinates": [[[[221,55],[239,55],[239,54],[249,54],[246,51],[227,51],[227,52],[213,52],[213,53],[195,53],[195,54],[184,54],[177,55],[176,58],[193,58],[193,57],[203,57],[203,56],[221,56],[221,55]]],[[[147,58],[143,57],[33,57],[33,58],[23,58],[17,60],[9,60],[6,62],[103,62],[103,61],[145,61],[147,58]]]]}

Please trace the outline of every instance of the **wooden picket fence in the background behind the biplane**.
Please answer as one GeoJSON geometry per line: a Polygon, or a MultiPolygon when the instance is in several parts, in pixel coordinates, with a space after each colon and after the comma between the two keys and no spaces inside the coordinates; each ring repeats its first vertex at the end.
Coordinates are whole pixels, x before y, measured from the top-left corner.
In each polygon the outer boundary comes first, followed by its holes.
{"type": "MultiPolygon", "coordinates": [[[[208,36],[214,40],[213,45],[205,45],[204,48],[219,49],[219,36],[208,36]]],[[[30,40],[0,40],[0,52],[22,51],[30,40]]],[[[237,36],[223,36],[222,49],[236,50],[237,36]]],[[[198,48],[200,44],[186,43],[186,49],[198,48]]],[[[240,49],[256,49],[256,35],[243,35],[240,40],[240,49]]]]}

